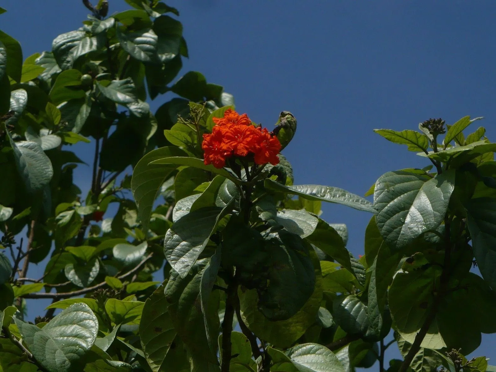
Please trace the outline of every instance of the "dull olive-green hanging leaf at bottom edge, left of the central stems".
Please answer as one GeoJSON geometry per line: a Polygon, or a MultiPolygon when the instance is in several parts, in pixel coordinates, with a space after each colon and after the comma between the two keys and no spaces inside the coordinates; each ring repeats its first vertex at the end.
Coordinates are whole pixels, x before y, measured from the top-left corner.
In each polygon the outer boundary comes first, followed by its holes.
{"type": "Polygon", "coordinates": [[[139,323],[141,346],[153,372],[159,372],[167,365],[167,355],[176,337],[168,305],[164,286],[160,286],[146,300],[142,313],[144,320],[139,323]]]}

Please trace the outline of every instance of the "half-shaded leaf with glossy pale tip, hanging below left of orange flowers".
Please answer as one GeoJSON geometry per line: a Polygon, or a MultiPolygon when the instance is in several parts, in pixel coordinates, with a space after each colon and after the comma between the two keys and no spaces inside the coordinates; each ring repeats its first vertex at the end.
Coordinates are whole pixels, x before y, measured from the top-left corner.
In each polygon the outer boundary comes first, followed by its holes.
{"type": "Polygon", "coordinates": [[[206,247],[219,221],[232,211],[234,201],[224,208],[206,207],[183,216],[167,231],[164,254],[181,277],[185,278],[206,247]],[[194,226],[194,229],[191,229],[194,226]]]}

